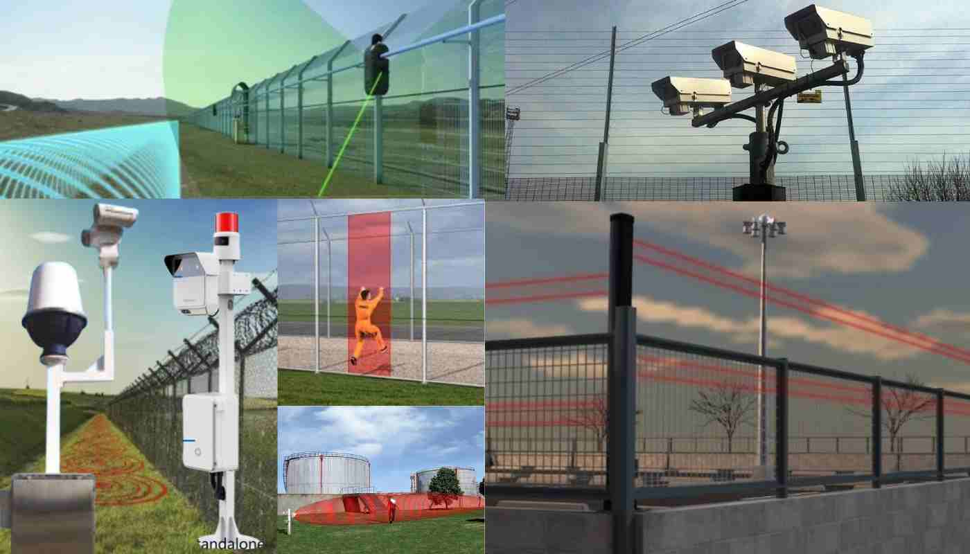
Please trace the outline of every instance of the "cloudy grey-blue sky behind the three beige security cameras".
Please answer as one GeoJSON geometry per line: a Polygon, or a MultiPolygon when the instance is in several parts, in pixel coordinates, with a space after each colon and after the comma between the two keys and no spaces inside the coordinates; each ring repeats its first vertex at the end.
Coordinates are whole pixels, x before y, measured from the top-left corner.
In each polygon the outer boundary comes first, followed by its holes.
{"type": "MultiPolygon", "coordinates": [[[[589,10],[578,0],[517,1],[507,8],[506,90],[609,49],[618,26],[618,46],[721,2],[692,0],[651,5],[608,0],[589,10]]],[[[802,57],[785,29],[784,17],[808,2],[745,2],[683,29],[617,54],[610,131],[611,176],[747,175],[741,146],[754,129],[727,121],[695,129],[690,116],[661,114],[650,83],[665,76],[720,78],[710,50],[731,40],[792,55],[798,75],[826,66],[802,57]]],[[[914,10],[902,0],[832,0],[825,7],[872,20],[876,46],[867,50],[862,81],[852,87],[853,115],[863,172],[901,171],[907,163],[966,154],[970,134],[970,18],[954,3],[914,10]]],[[[522,109],[513,141],[512,176],[595,175],[602,138],[608,58],[542,84],[510,93],[522,109]]],[[[855,62],[852,62],[853,64],[855,62]]],[[[850,77],[855,75],[852,70],[850,77]]],[[[732,99],[754,87],[735,88],[732,99]]],[[[842,90],[823,89],[823,104],[785,104],[779,175],[852,174],[842,90]]]]}

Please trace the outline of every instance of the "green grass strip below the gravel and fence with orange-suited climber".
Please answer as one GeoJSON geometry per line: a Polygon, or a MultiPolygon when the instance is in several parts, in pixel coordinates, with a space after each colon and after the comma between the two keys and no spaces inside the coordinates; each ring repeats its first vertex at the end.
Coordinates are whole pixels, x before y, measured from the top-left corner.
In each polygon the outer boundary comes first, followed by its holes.
{"type": "Polygon", "coordinates": [[[279,370],[280,406],[484,406],[480,387],[279,370]]]}

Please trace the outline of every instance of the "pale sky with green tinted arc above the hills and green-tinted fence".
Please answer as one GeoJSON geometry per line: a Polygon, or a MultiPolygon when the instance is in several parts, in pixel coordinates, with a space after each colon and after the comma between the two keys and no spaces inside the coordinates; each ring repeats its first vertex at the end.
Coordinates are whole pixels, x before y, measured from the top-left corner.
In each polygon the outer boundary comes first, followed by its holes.
{"type": "MultiPolygon", "coordinates": [[[[63,100],[166,96],[195,107],[227,96],[239,81],[261,81],[410,13],[388,41],[404,46],[445,12],[464,13],[467,6],[464,0],[8,4],[0,35],[20,48],[0,61],[0,90],[63,100]]],[[[486,4],[501,6],[501,0],[486,4]]],[[[452,52],[460,61],[460,50],[439,46],[435,55],[452,52]]],[[[493,73],[500,73],[501,61],[497,68],[493,73]]]]}

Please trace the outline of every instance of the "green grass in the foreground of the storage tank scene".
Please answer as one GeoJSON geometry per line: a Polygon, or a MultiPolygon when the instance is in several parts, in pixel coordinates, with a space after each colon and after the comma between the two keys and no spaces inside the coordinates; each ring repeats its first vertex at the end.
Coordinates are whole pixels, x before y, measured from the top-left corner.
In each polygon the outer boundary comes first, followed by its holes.
{"type": "MultiPolygon", "coordinates": [[[[286,529],[286,516],[280,516],[277,526],[286,529]]],[[[481,554],[485,510],[394,525],[308,525],[294,520],[293,535],[279,533],[276,540],[279,554],[481,554]]]]}

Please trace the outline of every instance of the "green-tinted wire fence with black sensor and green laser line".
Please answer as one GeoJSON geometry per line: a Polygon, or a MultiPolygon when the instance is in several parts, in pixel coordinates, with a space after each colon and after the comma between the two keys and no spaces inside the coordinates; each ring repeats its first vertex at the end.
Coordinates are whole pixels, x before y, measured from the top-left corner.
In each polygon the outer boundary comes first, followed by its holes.
{"type": "Polygon", "coordinates": [[[238,142],[312,160],[343,175],[421,196],[469,196],[469,56],[476,59],[482,189],[504,179],[504,24],[391,58],[390,91],[371,100],[358,64],[371,36],[392,48],[504,13],[502,0],[428,6],[322,52],[192,114],[188,120],[238,142]],[[469,37],[476,47],[469,47],[469,37]],[[470,51],[469,51],[470,50],[470,51]],[[358,120],[358,115],[360,118],[358,120]],[[341,153],[342,152],[342,153],[341,153]]]}

